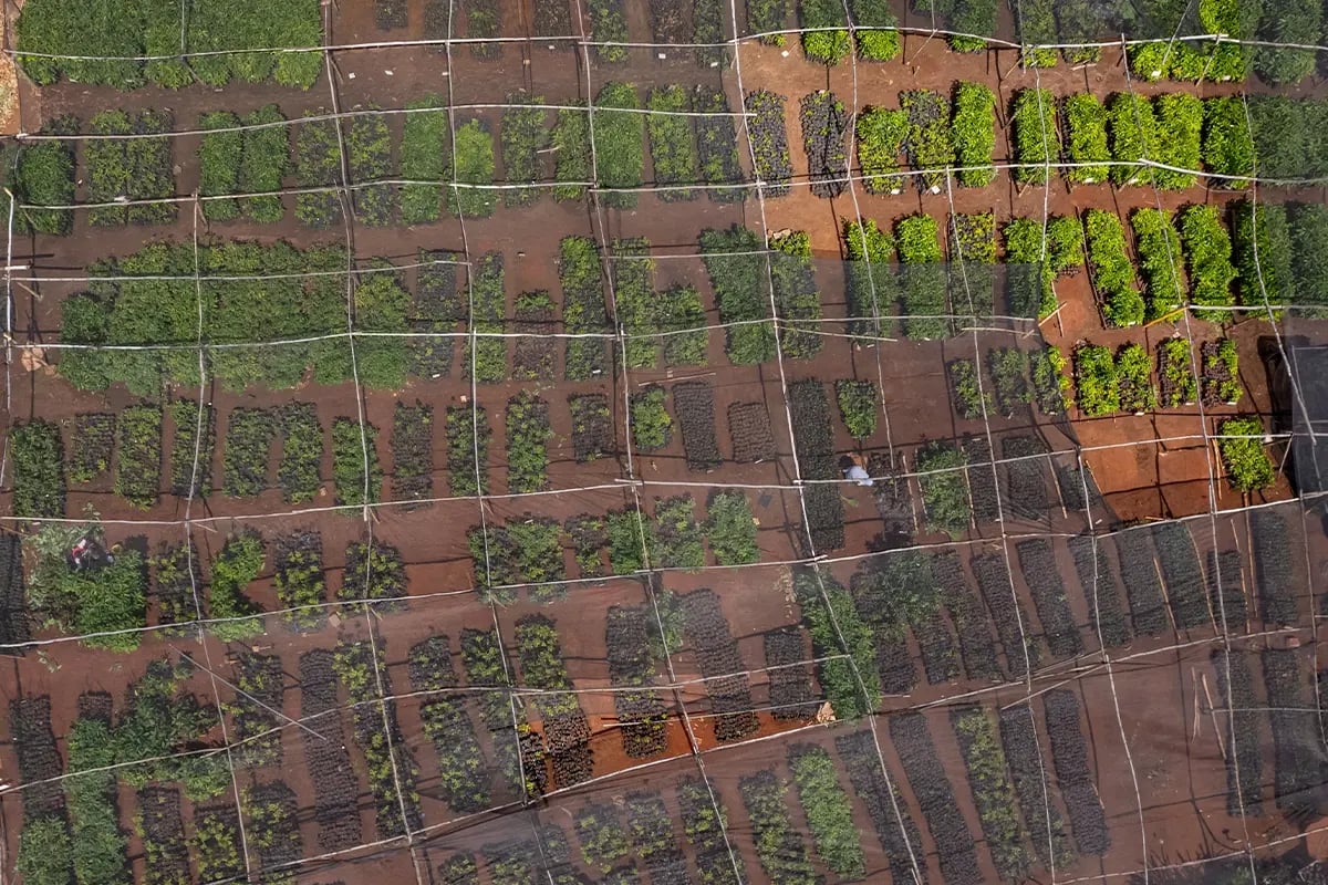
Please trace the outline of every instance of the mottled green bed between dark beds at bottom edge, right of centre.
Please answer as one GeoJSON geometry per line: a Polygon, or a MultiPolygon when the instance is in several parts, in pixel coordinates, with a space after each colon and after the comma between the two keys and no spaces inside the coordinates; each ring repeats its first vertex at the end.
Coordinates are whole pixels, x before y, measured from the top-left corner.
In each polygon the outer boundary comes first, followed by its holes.
{"type": "Polygon", "coordinates": [[[977,819],[991,849],[996,873],[1005,881],[1025,878],[1033,865],[1027,848],[1028,831],[1005,764],[1005,751],[996,728],[981,707],[965,705],[950,713],[968,784],[973,791],[977,819]]]}

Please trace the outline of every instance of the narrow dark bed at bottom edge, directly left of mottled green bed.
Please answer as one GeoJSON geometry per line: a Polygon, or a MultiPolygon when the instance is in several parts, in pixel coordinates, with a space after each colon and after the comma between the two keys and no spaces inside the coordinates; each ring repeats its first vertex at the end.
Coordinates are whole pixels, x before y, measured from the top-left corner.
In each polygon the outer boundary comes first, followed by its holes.
{"type": "Polygon", "coordinates": [[[955,791],[936,758],[927,719],[920,713],[890,716],[890,740],[936,844],[940,877],[946,885],[976,885],[981,873],[977,870],[973,837],[963,816],[955,813],[959,807],[955,791]]]}

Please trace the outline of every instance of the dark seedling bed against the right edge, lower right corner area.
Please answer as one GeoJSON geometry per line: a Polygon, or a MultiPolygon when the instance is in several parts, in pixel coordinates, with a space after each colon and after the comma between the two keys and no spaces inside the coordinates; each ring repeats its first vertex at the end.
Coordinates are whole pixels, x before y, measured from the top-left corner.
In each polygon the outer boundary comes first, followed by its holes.
{"type": "MultiPolygon", "coordinates": [[[[1278,808],[1293,815],[1313,813],[1324,778],[1324,748],[1315,698],[1300,669],[1296,649],[1264,649],[1263,686],[1272,726],[1272,783],[1278,808]]],[[[1258,744],[1255,744],[1258,746],[1258,744]]],[[[1255,770],[1258,771],[1258,770],[1255,770]]]]}

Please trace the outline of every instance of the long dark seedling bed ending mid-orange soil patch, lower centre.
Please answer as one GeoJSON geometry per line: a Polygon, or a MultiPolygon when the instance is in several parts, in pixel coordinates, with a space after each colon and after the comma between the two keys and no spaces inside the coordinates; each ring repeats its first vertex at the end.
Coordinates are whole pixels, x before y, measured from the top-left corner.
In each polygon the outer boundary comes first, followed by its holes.
{"type": "Polygon", "coordinates": [[[714,711],[714,736],[720,742],[741,740],[760,728],[752,713],[746,665],[729,622],[713,590],[696,590],[683,597],[683,629],[696,653],[705,690],[714,711]]]}

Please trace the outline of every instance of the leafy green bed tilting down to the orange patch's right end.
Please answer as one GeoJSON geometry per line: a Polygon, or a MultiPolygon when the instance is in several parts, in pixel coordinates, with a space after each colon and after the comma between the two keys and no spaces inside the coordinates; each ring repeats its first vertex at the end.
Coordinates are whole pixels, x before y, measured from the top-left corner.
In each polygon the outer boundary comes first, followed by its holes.
{"type": "Polygon", "coordinates": [[[811,636],[811,649],[818,661],[817,679],[837,719],[871,715],[880,707],[874,634],[863,622],[849,590],[833,577],[818,575],[814,568],[799,568],[793,573],[793,594],[811,636]]]}

